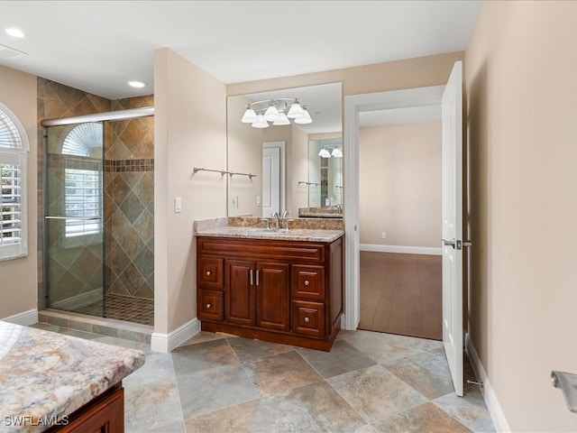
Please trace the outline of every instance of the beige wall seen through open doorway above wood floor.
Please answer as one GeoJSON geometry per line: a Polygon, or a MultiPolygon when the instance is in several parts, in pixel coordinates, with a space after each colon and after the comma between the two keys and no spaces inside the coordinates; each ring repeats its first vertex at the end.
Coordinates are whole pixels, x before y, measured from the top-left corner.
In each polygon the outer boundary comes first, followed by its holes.
{"type": "Polygon", "coordinates": [[[361,244],[440,248],[440,122],[360,128],[359,173],[361,244]]]}

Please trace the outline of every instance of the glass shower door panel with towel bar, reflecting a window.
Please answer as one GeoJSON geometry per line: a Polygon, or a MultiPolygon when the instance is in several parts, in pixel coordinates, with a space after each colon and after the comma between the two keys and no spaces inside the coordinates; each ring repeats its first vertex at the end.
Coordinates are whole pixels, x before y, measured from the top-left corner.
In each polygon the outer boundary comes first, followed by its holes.
{"type": "Polygon", "coordinates": [[[104,317],[104,124],[44,132],[46,307],[104,317]]]}

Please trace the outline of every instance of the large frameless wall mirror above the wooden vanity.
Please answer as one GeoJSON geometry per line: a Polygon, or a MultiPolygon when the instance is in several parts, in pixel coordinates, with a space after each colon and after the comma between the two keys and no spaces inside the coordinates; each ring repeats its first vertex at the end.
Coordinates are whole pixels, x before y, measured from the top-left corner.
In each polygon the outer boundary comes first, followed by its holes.
{"type": "Polygon", "coordinates": [[[228,97],[228,216],[341,217],[342,118],[341,83],[228,97]]]}

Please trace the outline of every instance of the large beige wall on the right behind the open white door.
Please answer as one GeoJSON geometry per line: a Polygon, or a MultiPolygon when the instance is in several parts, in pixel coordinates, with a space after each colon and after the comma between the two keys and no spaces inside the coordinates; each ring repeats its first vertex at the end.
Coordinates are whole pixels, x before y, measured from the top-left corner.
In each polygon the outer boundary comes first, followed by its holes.
{"type": "Polygon", "coordinates": [[[577,431],[577,3],[486,2],[466,51],[470,332],[513,431],[577,431]]]}

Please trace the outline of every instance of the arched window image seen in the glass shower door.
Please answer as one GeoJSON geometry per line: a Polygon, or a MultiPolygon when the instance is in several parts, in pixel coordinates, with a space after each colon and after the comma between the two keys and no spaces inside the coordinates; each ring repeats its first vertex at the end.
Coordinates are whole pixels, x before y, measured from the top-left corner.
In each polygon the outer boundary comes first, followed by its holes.
{"type": "Polygon", "coordinates": [[[62,143],[63,155],[89,159],[67,164],[69,168],[64,170],[66,237],[102,233],[102,169],[97,164],[102,161],[103,127],[100,123],[78,124],[62,143]]]}

